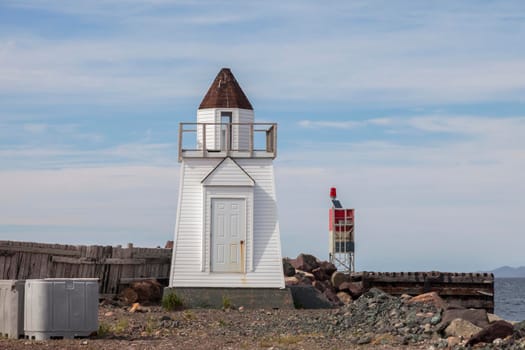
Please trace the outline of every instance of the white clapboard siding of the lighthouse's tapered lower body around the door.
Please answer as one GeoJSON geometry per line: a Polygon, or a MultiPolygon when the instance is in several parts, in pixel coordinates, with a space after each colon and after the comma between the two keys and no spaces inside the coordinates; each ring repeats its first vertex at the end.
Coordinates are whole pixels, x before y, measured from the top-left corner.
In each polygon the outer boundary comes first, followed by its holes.
{"type": "MultiPolygon", "coordinates": [[[[248,287],[284,288],[281,260],[281,243],[277,203],[275,198],[274,172],[271,159],[237,159],[255,182],[250,186],[210,186],[216,193],[246,196],[253,191],[252,241],[247,242],[246,273],[212,273],[209,270],[209,242],[205,226],[209,220],[204,215],[207,186],[202,180],[220,160],[185,159],[181,169],[181,190],[178,220],[175,232],[170,286],[172,287],[248,287]],[[230,188],[230,190],[228,190],[230,188]],[[243,189],[244,188],[244,189],[243,189]]],[[[228,167],[225,168],[229,168],[228,167]]],[[[251,220],[248,220],[251,221],[251,220]]]]}

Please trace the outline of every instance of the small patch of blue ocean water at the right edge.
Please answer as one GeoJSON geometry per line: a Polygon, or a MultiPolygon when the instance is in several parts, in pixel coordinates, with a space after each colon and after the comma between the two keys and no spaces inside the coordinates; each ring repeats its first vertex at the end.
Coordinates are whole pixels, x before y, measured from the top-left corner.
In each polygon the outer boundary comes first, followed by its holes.
{"type": "Polygon", "coordinates": [[[494,280],[494,313],[508,321],[525,320],[525,278],[494,280]]]}

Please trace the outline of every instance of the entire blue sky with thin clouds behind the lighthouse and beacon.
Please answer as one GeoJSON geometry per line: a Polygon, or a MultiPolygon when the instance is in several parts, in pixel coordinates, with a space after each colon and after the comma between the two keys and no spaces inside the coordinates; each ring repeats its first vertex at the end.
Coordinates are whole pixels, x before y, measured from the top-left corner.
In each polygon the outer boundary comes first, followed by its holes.
{"type": "Polygon", "coordinates": [[[525,265],[525,4],[0,2],[0,239],[163,245],[177,129],[221,67],[279,123],[283,254],[360,270],[525,265]]]}

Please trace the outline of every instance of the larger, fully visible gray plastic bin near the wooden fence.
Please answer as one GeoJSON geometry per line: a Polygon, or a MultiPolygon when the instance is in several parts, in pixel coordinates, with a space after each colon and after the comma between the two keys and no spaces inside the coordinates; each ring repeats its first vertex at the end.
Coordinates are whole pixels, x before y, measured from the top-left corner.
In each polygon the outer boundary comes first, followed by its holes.
{"type": "Polygon", "coordinates": [[[98,279],[26,280],[24,306],[28,339],[87,337],[98,330],[98,279]]]}

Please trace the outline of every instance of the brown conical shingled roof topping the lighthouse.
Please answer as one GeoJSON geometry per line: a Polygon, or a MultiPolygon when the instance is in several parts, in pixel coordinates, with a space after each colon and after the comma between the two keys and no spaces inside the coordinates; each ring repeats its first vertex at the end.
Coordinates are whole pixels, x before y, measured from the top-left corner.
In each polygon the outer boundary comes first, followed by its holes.
{"type": "Polygon", "coordinates": [[[199,109],[204,108],[242,108],[253,110],[248,97],[242,91],[229,68],[223,68],[217,74],[199,106],[199,109]]]}

